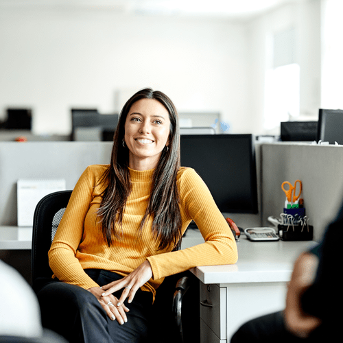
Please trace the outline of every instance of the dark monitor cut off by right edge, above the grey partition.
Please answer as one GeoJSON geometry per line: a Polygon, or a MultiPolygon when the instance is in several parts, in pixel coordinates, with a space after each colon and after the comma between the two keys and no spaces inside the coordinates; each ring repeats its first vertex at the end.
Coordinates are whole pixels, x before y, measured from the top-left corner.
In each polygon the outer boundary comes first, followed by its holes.
{"type": "Polygon", "coordinates": [[[330,144],[343,144],[343,110],[324,110],[320,108],[317,140],[330,144]]]}

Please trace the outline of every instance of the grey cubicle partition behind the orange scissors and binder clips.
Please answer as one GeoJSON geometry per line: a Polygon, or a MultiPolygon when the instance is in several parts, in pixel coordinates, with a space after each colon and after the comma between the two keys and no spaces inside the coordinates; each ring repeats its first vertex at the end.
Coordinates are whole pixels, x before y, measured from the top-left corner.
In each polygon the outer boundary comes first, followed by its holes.
{"type": "Polygon", "coordinates": [[[283,181],[303,182],[306,215],[319,241],[343,201],[343,146],[273,143],[261,146],[262,222],[283,212],[283,181]]]}

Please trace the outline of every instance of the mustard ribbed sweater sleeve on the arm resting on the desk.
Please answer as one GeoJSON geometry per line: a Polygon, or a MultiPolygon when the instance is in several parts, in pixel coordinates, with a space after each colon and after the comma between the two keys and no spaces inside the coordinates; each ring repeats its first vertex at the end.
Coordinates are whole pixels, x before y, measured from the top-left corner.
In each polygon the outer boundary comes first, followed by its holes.
{"type": "Polygon", "coordinates": [[[154,280],[200,265],[224,265],[237,262],[235,237],[217,208],[204,181],[187,168],[180,177],[180,206],[196,222],[204,243],[148,257],[154,280]]]}

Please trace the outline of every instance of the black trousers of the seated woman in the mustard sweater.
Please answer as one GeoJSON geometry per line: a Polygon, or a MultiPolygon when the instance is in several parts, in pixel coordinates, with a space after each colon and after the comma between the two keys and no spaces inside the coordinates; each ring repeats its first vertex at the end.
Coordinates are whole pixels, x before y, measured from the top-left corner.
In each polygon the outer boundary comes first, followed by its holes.
{"type": "MultiPolygon", "coordinates": [[[[100,286],[122,278],[106,270],[85,272],[100,286]]],[[[43,282],[37,294],[43,327],[64,336],[72,343],[145,342],[148,337],[152,294],[139,289],[126,316],[128,322],[110,320],[99,301],[82,287],[60,281],[43,282]]],[[[120,298],[121,291],[114,294],[120,298]]]]}

